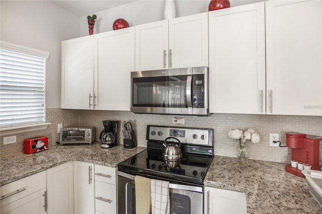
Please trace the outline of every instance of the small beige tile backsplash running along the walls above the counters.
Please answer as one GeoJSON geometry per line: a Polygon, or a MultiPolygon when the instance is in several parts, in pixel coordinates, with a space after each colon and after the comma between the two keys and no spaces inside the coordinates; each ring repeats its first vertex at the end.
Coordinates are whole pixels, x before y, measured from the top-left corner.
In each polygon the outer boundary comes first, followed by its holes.
{"type": "MultiPolygon", "coordinates": [[[[52,125],[47,130],[22,133],[17,135],[17,145],[3,145],[1,137],[1,156],[8,156],[23,151],[23,139],[38,135],[49,138],[49,145],[58,140],[57,124],[63,126],[95,126],[97,140],[103,129],[103,120],[129,121],[132,120],[137,136],[138,146],[146,147],[146,125],[176,126],[172,115],[140,115],[118,111],[91,111],[91,110],[61,110],[47,109],[47,122],[52,125]],[[14,146],[11,146],[14,145],[14,146]]],[[[253,128],[261,136],[259,144],[249,143],[250,159],[289,163],[291,149],[287,147],[269,146],[269,134],[277,133],[282,145],[285,145],[286,132],[300,132],[309,135],[322,136],[322,118],[314,116],[275,116],[275,115],[241,115],[241,114],[213,114],[209,117],[183,116],[183,127],[211,128],[214,130],[214,153],[220,156],[235,157],[237,142],[228,138],[229,129],[253,128]]],[[[119,143],[123,144],[119,128],[119,143]]],[[[49,147],[50,149],[50,147],[49,147]]],[[[322,155],[320,155],[322,157],[322,155]]]]}

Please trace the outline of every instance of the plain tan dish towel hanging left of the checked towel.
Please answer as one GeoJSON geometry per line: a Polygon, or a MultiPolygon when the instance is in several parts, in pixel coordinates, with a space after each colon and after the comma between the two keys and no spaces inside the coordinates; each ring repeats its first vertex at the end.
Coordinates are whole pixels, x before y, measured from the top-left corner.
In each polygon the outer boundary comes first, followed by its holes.
{"type": "Polygon", "coordinates": [[[149,214],[151,207],[151,179],[135,176],[136,213],[149,214]]]}

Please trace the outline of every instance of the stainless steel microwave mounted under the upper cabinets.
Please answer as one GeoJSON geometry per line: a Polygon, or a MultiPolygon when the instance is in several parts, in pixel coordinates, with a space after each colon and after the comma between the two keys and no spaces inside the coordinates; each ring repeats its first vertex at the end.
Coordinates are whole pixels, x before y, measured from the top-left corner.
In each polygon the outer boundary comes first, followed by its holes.
{"type": "Polygon", "coordinates": [[[208,67],[131,72],[131,112],[208,116],[208,67]]]}

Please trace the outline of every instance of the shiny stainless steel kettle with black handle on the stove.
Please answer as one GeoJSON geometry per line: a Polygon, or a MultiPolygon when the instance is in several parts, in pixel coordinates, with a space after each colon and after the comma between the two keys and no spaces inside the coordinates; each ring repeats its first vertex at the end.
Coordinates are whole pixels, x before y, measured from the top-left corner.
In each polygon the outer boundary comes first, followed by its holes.
{"type": "Polygon", "coordinates": [[[182,157],[182,153],[180,149],[180,146],[181,146],[180,140],[174,137],[168,137],[165,139],[165,142],[163,143],[163,145],[166,147],[163,152],[163,158],[165,159],[167,166],[170,169],[177,168],[180,165],[180,160],[182,157]],[[178,141],[179,145],[174,142],[167,143],[167,140],[169,139],[174,139],[178,141]]]}

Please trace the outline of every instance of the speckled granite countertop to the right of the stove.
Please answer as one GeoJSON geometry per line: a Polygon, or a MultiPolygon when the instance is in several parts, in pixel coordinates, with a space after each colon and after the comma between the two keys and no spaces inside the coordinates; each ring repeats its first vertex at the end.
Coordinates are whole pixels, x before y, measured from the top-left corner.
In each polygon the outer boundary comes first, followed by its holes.
{"type": "Polygon", "coordinates": [[[244,191],[248,213],[322,213],[306,179],[286,172],[285,165],[215,155],[204,184],[244,191]]]}

